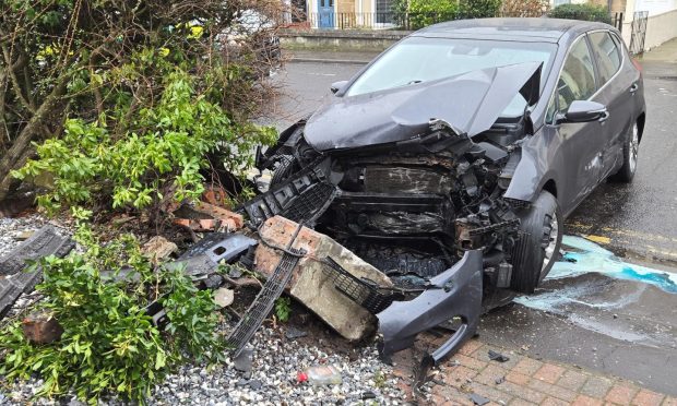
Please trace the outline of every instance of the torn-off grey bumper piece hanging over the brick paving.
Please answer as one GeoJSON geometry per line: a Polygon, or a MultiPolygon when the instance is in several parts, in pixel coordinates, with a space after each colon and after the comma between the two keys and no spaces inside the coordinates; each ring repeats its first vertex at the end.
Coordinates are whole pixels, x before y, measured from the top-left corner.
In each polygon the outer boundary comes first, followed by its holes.
{"type": "Polygon", "coordinates": [[[454,353],[475,334],[482,313],[483,254],[480,250],[466,251],[461,261],[438,276],[430,278],[429,287],[409,301],[394,301],[377,314],[381,357],[390,357],[414,345],[416,336],[454,318],[461,326],[438,349],[426,358],[437,365],[454,353]]]}

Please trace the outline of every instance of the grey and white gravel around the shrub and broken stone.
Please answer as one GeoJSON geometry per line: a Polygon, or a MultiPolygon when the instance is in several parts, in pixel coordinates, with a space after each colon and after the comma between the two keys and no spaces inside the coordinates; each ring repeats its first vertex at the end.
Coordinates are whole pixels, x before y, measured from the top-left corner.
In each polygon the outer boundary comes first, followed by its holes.
{"type": "MultiPolygon", "coordinates": [[[[26,229],[37,229],[46,222],[33,215],[24,218],[0,219],[0,256],[20,241],[15,237],[26,229]]],[[[29,302],[22,297],[17,307],[29,302]]],[[[355,347],[348,355],[331,345],[302,344],[285,337],[285,327],[263,326],[249,346],[253,362],[250,372],[240,372],[228,359],[225,365],[207,368],[188,363],[169,374],[153,390],[150,405],[320,405],[320,404],[403,404],[404,394],[397,386],[392,368],[379,360],[376,345],[355,347]],[[341,372],[342,383],[314,386],[298,383],[297,373],[312,366],[333,366],[341,372]]],[[[0,405],[81,405],[73,395],[61,402],[32,398],[43,381],[4,382],[0,386],[0,405]]],[[[122,405],[118,399],[100,402],[102,405],[122,405]]]]}

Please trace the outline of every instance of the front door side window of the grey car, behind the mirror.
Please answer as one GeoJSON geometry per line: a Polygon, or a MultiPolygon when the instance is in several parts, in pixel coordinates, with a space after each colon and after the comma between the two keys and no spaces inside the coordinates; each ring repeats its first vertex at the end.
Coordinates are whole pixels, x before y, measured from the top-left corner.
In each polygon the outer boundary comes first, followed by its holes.
{"type": "Polygon", "coordinates": [[[592,56],[584,37],[571,46],[557,82],[557,111],[565,112],[574,100],[586,100],[596,92],[592,56]]]}

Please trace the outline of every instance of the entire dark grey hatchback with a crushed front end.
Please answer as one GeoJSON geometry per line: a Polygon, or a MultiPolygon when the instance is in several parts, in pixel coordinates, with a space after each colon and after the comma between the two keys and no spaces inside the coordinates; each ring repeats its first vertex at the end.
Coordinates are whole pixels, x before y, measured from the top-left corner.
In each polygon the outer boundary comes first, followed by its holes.
{"type": "Polygon", "coordinates": [[[437,24],[332,91],[259,154],[270,189],[241,211],[312,227],[391,278],[384,355],[454,321],[433,362],[483,310],[534,291],[599,182],[632,180],[645,120],[619,32],[581,21],[437,24]]]}

